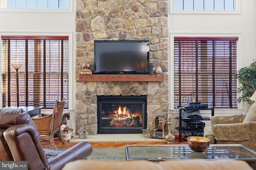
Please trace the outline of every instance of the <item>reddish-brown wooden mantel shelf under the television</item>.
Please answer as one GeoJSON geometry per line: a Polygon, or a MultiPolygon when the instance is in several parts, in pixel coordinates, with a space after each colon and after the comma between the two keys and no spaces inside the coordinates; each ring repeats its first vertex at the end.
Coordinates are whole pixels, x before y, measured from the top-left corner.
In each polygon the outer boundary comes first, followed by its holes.
{"type": "Polygon", "coordinates": [[[84,82],[163,82],[164,75],[144,75],[144,74],[79,75],[79,81],[84,81],[84,82]]]}

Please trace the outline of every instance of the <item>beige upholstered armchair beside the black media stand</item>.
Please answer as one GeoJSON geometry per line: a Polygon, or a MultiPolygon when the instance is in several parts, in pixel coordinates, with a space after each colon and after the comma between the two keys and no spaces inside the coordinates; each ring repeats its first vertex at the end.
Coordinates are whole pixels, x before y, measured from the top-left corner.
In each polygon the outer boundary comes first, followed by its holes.
{"type": "MultiPolygon", "coordinates": [[[[255,101],[253,96],[250,99],[255,101]]],[[[246,115],[212,116],[211,126],[204,128],[204,137],[211,144],[242,144],[256,150],[256,102],[246,115]]]]}

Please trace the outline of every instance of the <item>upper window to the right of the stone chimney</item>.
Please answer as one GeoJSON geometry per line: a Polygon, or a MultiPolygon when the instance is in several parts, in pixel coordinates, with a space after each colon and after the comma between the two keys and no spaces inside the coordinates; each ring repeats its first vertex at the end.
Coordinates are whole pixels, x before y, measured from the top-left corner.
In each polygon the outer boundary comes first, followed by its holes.
{"type": "Polygon", "coordinates": [[[173,0],[173,10],[234,11],[236,0],[173,0]]]}

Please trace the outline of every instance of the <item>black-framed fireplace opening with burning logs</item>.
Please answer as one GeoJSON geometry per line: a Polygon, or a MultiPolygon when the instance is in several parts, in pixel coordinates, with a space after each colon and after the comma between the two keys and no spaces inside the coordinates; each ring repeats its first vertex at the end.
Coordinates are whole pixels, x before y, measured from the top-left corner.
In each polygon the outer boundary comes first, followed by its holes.
{"type": "Polygon", "coordinates": [[[98,134],[142,133],[146,96],[98,96],[98,134]]]}

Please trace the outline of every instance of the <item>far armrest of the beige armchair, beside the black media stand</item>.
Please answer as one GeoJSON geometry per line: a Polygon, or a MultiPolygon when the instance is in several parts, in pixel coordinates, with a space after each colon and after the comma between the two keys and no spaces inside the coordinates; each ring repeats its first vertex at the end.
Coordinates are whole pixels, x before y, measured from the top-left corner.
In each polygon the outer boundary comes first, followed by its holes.
{"type": "Polygon", "coordinates": [[[227,124],[227,123],[241,123],[243,120],[242,114],[230,116],[212,116],[211,125],[227,124]]]}

